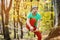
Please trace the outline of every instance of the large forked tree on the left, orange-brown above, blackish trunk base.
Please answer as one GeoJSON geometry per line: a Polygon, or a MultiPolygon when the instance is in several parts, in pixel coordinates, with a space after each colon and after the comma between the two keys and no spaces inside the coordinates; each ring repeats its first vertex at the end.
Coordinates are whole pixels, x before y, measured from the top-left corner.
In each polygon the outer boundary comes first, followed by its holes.
{"type": "Polygon", "coordinates": [[[9,11],[12,6],[12,0],[10,0],[9,6],[5,4],[5,1],[7,0],[1,0],[2,4],[2,25],[3,25],[3,34],[4,34],[4,39],[5,40],[11,40],[9,36],[9,29],[8,29],[8,23],[9,23],[9,11]],[[5,8],[6,7],[6,8],[5,8]],[[4,20],[4,15],[5,14],[5,20],[4,20]],[[5,21],[5,22],[4,22],[5,21]]]}

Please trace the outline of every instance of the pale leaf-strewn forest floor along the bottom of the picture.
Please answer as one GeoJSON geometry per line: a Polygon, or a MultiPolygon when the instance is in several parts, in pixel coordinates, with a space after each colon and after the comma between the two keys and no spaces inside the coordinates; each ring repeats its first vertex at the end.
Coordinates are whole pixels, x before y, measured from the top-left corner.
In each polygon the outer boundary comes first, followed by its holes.
{"type": "MultiPolygon", "coordinates": [[[[48,35],[42,35],[42,40],[44,40],[48,35]]],[[[3,35],[0,35],[0,40],[4,40],[3,35]]],[[[32,37],[32,38],[23,38],[23,39],[13,39],[12,40],[37,40],[37,37],[32,37]]],[[[60,40],[60,36],[51,38],[50,40],[60,40]]]]}

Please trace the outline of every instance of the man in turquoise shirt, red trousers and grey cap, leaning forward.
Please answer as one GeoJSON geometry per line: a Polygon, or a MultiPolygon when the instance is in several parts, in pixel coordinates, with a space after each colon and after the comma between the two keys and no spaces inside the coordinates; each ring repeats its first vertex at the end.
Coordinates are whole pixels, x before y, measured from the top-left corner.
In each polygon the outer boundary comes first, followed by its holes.
{"type": "Polygon", "coordinates": [[[27,28],[37,35],[38,40],[41,40],[41,33],[38,30],[40,19],[41,15],[38,13],[38,7],[33,6],[31,12],[27,16],[27,28]]]}

